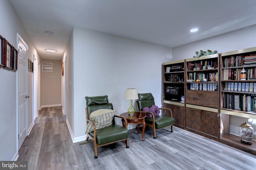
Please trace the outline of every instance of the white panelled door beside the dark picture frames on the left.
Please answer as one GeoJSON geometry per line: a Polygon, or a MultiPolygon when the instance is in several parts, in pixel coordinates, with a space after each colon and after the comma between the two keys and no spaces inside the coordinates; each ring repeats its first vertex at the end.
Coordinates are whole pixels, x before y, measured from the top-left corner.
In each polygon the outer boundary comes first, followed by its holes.
{"type": "Polygon", "coordinates": [[[20,149],[28,134],[28,46],[18,35],[18,149],[20,149]]]}

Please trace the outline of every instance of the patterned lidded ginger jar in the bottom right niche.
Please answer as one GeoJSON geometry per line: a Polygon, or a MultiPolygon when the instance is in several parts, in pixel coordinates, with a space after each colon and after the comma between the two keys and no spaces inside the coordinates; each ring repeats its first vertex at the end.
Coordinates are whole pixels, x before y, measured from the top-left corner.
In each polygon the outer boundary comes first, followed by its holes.
{"type": "Polygon", "coordinates": [[[254,129],[252,128],[252,125],[249,125],[246,123],[241,123],[239,126],[239,132],[241,136],[241,142],[245,143],[247,145],[252,145],[252,137],[254,134],[254,129]]]}

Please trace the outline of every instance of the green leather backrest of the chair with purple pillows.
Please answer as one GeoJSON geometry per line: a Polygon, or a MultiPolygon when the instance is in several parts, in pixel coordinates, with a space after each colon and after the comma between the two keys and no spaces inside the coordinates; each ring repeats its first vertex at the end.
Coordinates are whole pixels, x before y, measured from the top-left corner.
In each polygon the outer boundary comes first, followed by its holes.
{"type": "Polygon", "coordinates": [[[155,105],[154,97],[151,93],[141,93],[139,94],[139,100],[137,100],[137,107],[139,111],[142,111],[143,107],[151,107],[155,105]]]}

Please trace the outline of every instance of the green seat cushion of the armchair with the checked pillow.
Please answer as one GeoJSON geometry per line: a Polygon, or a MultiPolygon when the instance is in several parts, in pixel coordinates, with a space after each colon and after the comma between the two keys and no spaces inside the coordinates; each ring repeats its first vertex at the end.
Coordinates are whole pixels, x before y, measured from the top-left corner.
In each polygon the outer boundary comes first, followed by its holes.
{"type": "MultiPolygon", "coordinates": [[[[93,131],[90,132],[90,134],[93,136],[93,131]]],[[[96,130],[96,134],[96,141],[98,145],[102,145],[127,138],[128,130],[120,125],[110,125],[108,127],[96,130]]]]}

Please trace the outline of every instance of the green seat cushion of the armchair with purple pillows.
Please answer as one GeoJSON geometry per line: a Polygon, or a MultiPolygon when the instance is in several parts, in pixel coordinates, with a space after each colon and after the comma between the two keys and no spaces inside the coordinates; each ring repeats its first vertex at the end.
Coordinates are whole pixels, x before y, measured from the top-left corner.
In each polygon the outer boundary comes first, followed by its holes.
{"type": "MultiPolygon", "coordinates": [[[[153,118],[145,118],[145,123],[146,124],[153,124],[153,118]]],[[[168,117],[168,116],[163,116],[163,115],[159,115],[159,116],[155,116],[155,126],[156,129],[161,129],[163,127],[166,126],[170,126],[173,125],[175,123],[174,118],[173,117],[168,117]]]]}

